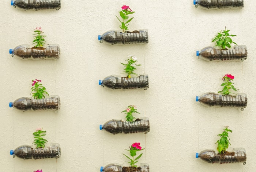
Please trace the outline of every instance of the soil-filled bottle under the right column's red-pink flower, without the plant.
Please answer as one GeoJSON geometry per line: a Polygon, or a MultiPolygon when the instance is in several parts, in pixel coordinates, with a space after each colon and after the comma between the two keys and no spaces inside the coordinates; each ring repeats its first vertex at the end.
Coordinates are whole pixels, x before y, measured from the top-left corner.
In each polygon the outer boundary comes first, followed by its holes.
{"type": "Polygon", "coordinates": [[[205,106],[221,106],[221,107],[238,107],[241,111],[247,106],[247,96],[245,93],[237,93],[232,95],[221,95],[214,92],[207,92],[201,96],[196,96],[196,101],[199,101],[205,106]]]}

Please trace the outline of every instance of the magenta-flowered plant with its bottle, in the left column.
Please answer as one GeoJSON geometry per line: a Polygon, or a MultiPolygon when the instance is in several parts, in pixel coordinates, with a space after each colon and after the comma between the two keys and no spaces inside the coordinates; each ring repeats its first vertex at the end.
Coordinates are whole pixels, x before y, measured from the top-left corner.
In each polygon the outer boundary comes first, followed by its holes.
{"type": "MultiPolygon", "coordinates": [[[[32,88],[31,93],[32,97],[21,97],[16,99],[14,102],[9,103],[10,108],[17,109],[19,111],[27,111],[27,110],[52,110],[56,111],[60,109],[60,97],[59,96],[49,96],[48,92],[46,92],[46,88],[40,84],[41,80],[32,80],[32,88]],[[45,97],[48,95],[48,97],[45,97]]],[[[30,95],[31,95],[30,93],[30,95]]]]}

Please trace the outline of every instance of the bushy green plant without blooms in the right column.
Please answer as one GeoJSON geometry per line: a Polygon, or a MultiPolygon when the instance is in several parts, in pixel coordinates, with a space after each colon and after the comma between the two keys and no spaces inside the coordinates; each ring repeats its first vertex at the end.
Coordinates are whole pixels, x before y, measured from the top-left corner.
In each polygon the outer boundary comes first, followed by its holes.
{"type": "MultiPolygon", "coordinates": [[[[226,27],[225,27],[225,31],[221,31],[220,33],[218,33],[218,35],[216,35],[212,39],[212,42],[216,41],[215,46],[221,47],[221,49],[226,49],[226,47],[231,48],[230,44],[232,44],[234,42],[232,41],[230,36],[233,37],[233,36],[236,36],[236,35],[229,35],[229,31],[230,30],[226,30],[226,27]]],[[[234,44],[236,44],[236,43],[234,43],[234,44]]]]}

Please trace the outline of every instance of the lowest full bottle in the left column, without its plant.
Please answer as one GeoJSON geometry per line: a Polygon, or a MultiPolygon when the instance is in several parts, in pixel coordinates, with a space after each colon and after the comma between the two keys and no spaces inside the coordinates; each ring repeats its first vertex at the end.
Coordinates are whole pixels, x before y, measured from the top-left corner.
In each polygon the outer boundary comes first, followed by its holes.
{"type": "Polygon", "coordinates": [[[18,148],[11,150],[10,154],[13,158],[18,157],[23,160],[27,159],[45,159],[45,158],[59,158],[60,157],[60,145],[58,143],[50,144],[47,148],[33,148],[29,145],[22,145],[18,148]]]}

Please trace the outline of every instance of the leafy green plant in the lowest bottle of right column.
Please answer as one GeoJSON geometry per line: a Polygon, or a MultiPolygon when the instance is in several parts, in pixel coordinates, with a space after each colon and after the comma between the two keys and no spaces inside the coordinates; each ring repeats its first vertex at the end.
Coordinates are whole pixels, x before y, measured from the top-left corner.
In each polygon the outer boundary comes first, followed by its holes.
{"type": "MultiPolygon", "coordinates": [[[[224,153],[224,151],[226,151],[227,148],[229,148],[229,133],[228,132],[232,132],[232,130],[228,129],[229,126],[226,126],[225,128],[223,128],[223,132],[222,134],[219,134],[218,136],[221,137],[221,139],[219,139],[215,144],[218,143],[218,147],[217,150],[219,151],[219,154],[224,153]]],[[[230,144],[231,145],[231,144],[230,144]]]]}

